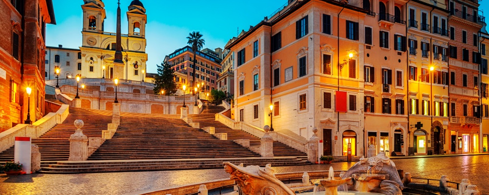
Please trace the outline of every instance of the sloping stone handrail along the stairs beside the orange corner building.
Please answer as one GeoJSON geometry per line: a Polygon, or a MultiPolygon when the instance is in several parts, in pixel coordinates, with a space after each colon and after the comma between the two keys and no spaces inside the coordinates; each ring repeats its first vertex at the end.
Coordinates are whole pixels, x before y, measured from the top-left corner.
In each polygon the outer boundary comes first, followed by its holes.
{"type": "MultiPolygon", "coordinates": [[[[253,136],[256,137],[263,137],[265,135],[265,130],[255,127],[250,124],[246,124],[244,122],[236,122],[232,120],[231,118],[228,118],[223,115],[224,112],[227,110],[222,111],[221,113],[216,114],[216,120],[221,122],[222,124],[226,125],[227,127],[235,130],[243,130],[247,133],[250,133],[253,136]]],[[[289,137],[283,133],[280,132],[270,132],[270,136],[273,137],[273,140],[280,141],[292,148],[295,148],[301,152],[307,153],[308,147],[307,147],[307,142],[303,143],[300,140],[297,140],[293,137],[289,137]]]]}

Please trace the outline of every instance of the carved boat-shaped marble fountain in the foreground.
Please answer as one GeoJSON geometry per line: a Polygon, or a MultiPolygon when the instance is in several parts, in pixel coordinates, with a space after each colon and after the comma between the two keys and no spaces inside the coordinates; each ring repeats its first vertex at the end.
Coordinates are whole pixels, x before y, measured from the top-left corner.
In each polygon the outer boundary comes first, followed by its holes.
{"type": "Polygon", "coordinates": [[[447,185],[448,177],[442,176],[439,186],[411,182],[411,175],[404,174],[401,180],[396,165],[388,156],[380,153],[376,156],[362,157],[339,177],[334,176],[330,167],[328,178],[309,179],[304,173],[302,183],[284,184],[275,177],[270,164],[265,167],[234,165],[224,162],[224,170],[235,181],[237,192],[233,195],[413,195],[413,191],[423,190],[420,194],[437,193],[447,195],[480,195],[477,186],[462,180],[459,189],[447,185]],[[424,193],[429,192],[429,193],[424,193]]]}

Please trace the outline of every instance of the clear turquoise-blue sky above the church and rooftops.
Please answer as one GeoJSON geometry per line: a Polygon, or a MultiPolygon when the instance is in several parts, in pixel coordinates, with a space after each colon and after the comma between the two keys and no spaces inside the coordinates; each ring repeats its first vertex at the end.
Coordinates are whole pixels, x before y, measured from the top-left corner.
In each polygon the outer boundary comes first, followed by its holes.
{"type": "MultiPolygon", "coordinates": [[[[121,28],[127,34],[127,7],[132,0],[121,0],[121,28]]],[[[103,0],[107,13],[105,31],[115,33],[116,0],[103,0]]],[[[146,8],[147,71],[156,73],[156,64],[166,55],[186,45],[189,32],[204,35],[204,48],[223,48],[238,29],[248,30],[265,16],[282,7],[287,0],[141,0],[146,8]]],[[[480,10],[487,10],[489,0],[479,1],[480,10]]],[[[53,0],[57,25],[47,25],[46,44],[78,48],[82,45],[83,0],[53,0]]],[[[489,22],[489,20],[488,20],[489,22]]]]}

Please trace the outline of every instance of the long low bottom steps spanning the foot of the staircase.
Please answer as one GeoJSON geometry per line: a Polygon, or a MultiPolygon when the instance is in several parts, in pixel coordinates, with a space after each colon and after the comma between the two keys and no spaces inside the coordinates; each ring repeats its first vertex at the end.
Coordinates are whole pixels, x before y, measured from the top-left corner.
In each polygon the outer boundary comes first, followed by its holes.
{"type": "Polygon", "coordinates": [[[307,164],[306,160],[296,157],[240,157],[240,158],[194,158],[168,160],[89,160],[58,161],[56,164],[42,164],[44,174],[73,174],[98,172],[222,169],[222,162],[244,163],[244,166],[289,166],[307,164]]]}

